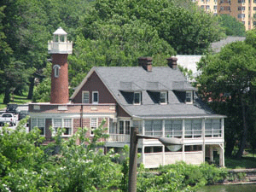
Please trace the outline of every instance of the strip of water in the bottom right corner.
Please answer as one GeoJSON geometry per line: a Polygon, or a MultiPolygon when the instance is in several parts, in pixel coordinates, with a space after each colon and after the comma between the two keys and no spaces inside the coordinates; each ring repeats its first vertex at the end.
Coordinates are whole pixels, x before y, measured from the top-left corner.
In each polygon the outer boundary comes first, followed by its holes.
{"type": "Polygon", "coordinates": [[[256,192],[256,184],[208,185],[198,192],[256,192]]]}

